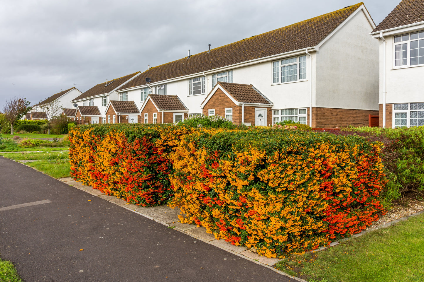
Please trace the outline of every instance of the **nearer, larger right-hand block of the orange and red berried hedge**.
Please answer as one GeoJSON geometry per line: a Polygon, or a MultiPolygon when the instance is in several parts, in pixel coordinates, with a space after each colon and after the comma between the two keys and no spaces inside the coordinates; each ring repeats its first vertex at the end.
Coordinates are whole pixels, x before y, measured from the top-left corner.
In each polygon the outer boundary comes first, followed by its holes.
{"type": "Polygon", "coordinates": [[[171,154],[181,222],[267,257],[316,249],[384,213],[379,144],[298,130],[201,130],[171,154]]]}

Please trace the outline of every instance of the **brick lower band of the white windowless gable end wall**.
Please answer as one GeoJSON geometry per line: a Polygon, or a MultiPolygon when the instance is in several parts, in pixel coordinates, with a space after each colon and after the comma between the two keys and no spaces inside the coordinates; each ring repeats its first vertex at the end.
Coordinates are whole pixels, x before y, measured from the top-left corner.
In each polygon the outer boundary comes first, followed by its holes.
{"type": "Polygon", "coordinates": [[[379,111],[336,108],[312,108],[312,127],[340,128],[349,125],[352,125],[354,127],[368,126],[368,115],[370,114],[378,115],[379,111]]]}

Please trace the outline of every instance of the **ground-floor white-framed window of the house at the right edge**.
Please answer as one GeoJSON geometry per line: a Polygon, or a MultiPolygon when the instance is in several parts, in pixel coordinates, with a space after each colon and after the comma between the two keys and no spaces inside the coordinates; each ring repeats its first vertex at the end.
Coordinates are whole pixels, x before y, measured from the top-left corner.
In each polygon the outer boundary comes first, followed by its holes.
{"type": "Polygon", "coordinates": [[[415,127],[424,125],[424,103],[393,105],[394,127],[415,127]]]}

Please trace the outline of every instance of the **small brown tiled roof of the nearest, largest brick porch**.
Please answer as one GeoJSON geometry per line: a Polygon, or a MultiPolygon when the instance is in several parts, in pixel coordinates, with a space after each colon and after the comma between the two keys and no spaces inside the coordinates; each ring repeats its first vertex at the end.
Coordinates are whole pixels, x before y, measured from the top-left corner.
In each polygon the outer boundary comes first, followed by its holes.
{"type": "MultiPolygon", "coordinates": [[[[218,82],[217,84],[222,86],[237,102],[272,105],[272,102],[251,84],[229,82],[218,82]]],[[[211,93],[209,93],[209,95],[211,95],[211,93]]],[[[206,101],[208,97],[206,97],[203,102],[206,101]]]]}

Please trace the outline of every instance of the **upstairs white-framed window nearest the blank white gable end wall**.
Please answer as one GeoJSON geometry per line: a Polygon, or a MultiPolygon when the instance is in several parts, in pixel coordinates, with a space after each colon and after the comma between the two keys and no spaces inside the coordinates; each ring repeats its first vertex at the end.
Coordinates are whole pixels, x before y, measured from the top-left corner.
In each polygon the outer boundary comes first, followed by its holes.
{"type": "Polygon", "coordinates": [[[273,83],[306,79],[306,55],[273,62],[273,83]]]}

